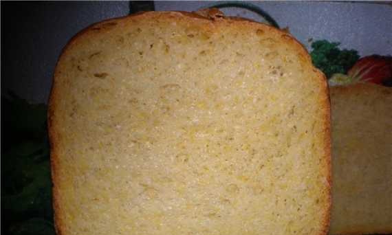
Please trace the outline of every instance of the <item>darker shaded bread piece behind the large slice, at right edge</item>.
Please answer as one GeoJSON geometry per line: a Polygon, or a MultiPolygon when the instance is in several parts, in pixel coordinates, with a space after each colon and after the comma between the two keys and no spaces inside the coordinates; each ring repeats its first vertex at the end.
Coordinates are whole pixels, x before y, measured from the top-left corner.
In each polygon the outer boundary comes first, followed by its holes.
{"type": "Polygon", "coordinates": [[[392,88],[331,87],[330,234],[392,234],[392,88]]]}

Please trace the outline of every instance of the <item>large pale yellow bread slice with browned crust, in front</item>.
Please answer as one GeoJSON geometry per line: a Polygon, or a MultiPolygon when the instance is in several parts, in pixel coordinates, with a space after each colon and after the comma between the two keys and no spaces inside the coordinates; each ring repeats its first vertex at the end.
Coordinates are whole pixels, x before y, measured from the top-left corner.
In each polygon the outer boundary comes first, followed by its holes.
{"type": "Polygon", "coordinates": [[[93,25],[58,61],[49,122],[61,235],[327,232],[325,77],[268,25],[93,25]]]}

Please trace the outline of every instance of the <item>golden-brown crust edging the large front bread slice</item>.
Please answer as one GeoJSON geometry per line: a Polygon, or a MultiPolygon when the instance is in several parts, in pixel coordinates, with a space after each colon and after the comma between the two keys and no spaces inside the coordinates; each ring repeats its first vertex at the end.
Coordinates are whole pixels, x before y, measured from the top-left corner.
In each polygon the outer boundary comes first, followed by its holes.
{"type": "MultiPolygon", "coordinates": [[[[90,25],[89,27],[85,28],[84,30],[81,30],[76,34],[70,41],[67,43],[67,45],[63,48],[63,52],[58,60],[58,64],[56,65],[56,69],[54,72],[54,82],[52,85],[52,91],[50,94],[50,102],[49,102],[49,111],[48,111],[48,128],[49,128],[49,133],[50,133],[50,147],[51,147],[51,164],[52,164],[52,181],[54,183],[54,188],[53,188],[53,194],[54,194],[54,219],[56,223],[56,233],[57,234],[64,234],[64,225],[63,223],[63,218],[61,217],[61,205],[59,203],[60,200],[60,195],[59,195],[59,190],[58,190],[58,184],[60,183],[61,179],[58,178],[58,169],[60,166],[58,166],[59,161],[58,161],[58,144],[61,141],[59,137],[59,133],[56,132],[56,126],[58,125],[56,118],[56,113],[54,113],[54,110],[56,110],[56,102],[58,102],[58,86],[56,85],[58,83],[58,73],[60,72],[59,69],[59,64],[61,63],[61,60],[65,57],[65,55],[72,49],[72,47],[78,43],[79,40],[83,40],[82,38],[88,34],[95,34],[95,33],[102,33],[102,32],[107,32],[109,28],[113,25],[116,25],[118,23],[124,23],[127,21],[131,21],[133,19],[148,19],[150,15],[153,14],[157,17],[168,17],[168,18],[175,18],[175,19],[183,19],[184,17],[188,17],[189,19],[192,20],[203,20],[203,21],[209,21],[210,23],[214,24],[220,24],[223,22],[227,23],[236,23],[239,25],[243,25],[244,27],[256,27],[256,28],[263,28],[265,30],[268,30],[270,34],[280,34],[282,38],[288,41],[288,43],[291,43],[296,47],[296,51],[298,52],[298,55],[300,56],[301,60],[303,63],[307,63],[308,65],[312,66],[312,60],[307,53],[307,50],[305,47],[299,43],[294,37],[291,36],[291,34],[283,31],[276,29],[274,27],[270,27],[269,25],[265,25],[263,23],[257,23],[254,21],[250,21],[248,19],[243,19],[239,17],[227,17],[221,14],[219,10],[213,9],[213,10],[204,10],[202,12],[141,12],[138,14],[133,14],[130,16],[124,16],[116,19],[109,19],[106,21],[102,21],[100,23],[94,23],[93,25],[90,25]]],[[[187,19],[188,20],[188,19],[187,19]]],[[[326,205],[325,208],[325,219],[323,220],[323,230],[320,232],[320,235],[327,234],[327,231],[329,229],[329,221],[330,221],[330,209],[331,209],[331,137],[330,137],[330,102],[329,102],[329,96],[328,94],[328,87],[327,87],[327,82],[325,79],[325,76],[318,71],[318,69],[312,67],[314,69],[315,73],[317,74],[319,78],[319,82],[321,83],[323,87],[323,93],[325,93],[325,100],[321,100],[320,102],[323,103],[323,108],[325,110],[325,127],[324,127],[324,138],[325,138],[325,175],[327,175],[327,183],[329,184],[329,187],[327,188],[327,192],[325,192],[326,197],[328,197],[329,203],[326,205]]]]}

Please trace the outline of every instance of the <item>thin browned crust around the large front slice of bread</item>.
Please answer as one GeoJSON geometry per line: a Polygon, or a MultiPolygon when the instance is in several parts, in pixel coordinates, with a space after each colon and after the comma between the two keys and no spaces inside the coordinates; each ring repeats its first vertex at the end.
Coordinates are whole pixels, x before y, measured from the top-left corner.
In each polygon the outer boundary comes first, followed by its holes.
{"type": "Polygon", "coordinates": [[[256,23],[249,21],[247,19],[241,19],[237,17],[226,17],[221,14],[221,12],[217,10],[204,10],[199,13],[190,13],[190,12],[142,12],[139,14],[133,14],[130,16],[124,16],[118,19],[109,19],[107,21],[102,21],[100,23],[96,23],[87,27],[85,30],[82,30],[71,41],[65,46],[63,49],[63,53],[58,60],[58,64],[56,65],[56,69],[54,71],[54,83],[52,86],[52,92],[50,96],[50,104],[49,104],[49,111],[48,111],[48,126],[50,132],[50,146],[51,146],[51,161],[52,161],[52,180],[54,182],[54,208],[55,208],[55,221],[56,221],[56,232],[59,235],[66,235],[63,232],[63,227],[65,221],[62,221],[62,208],[60,205],[60,192],[58,192],[58,185],[61,182],[61,179],[58,176],[58,169],[59,169],[59,139],[61,139],[61,133],[58,133],[58,129],[61,126],[61,117],[58,116],[57,107],[58,103],[61,102],[61,85],[59,85],[59,78],[61,73],[64,69],[63,60],[67,58],[69,54],[72,53],[74,48],[83,41],[89,41],[91,38],[98,34],[109,34],[113,27],[126,27],[129,23],[133,20],[140,20],[140,21],[149,21],[150,19],[164,19],[164,20],[172,20],[173,22],[176,21],[187,21],[187,22],[194,22],[194,21],[206,21],[208,23],[208,30],[214,30],[218,28],[220,25],[232,25],[232,27],[249,27],[254,30],[261,30],[261,32],[268,32],[271,37],[276,38],[283,38],[287,45],[294,48],[298,53],[298,58],[300,63],[305,69],[312,70],[314,72],[314,79],[319,82],[320,87],[322,87],[322,91],[320,93],[320,104],[322,104],[322,109],[325,113],[325,118],[323,119],[323,139],[325,143],[325,150],[324,150],[324,162],[323,162],[323,175],[325,175],[325,179],[327,180],[327,187],[323,192],[324,196],[327,197],[325,203],[325,209],[323,214],[323,229],[320,230],[320,235],[326,234],[329,227],[329,211],[331,208],[331,159],[330,159],[330,117],[329,117],[329,96],[328,96],[328,87],[326,83],[325,76],[318,71],[312,65],[312,60],[307,53],[306,49],[296,41],[290,34],[287,32],[283,32],[278,30],[274,27],[270,27],[268,25],[264,25],[262,23],[256,23]]]}

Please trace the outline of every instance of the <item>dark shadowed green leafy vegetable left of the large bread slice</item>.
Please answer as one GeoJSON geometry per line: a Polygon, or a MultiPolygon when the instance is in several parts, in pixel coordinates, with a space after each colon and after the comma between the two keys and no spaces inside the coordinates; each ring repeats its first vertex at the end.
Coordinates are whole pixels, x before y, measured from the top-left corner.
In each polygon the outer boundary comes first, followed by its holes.
{"type": "Polygon", "coordinates": [[[1,234],[54,235],[47,108],[1,98],[1,234]]]}

